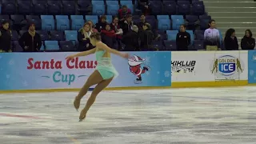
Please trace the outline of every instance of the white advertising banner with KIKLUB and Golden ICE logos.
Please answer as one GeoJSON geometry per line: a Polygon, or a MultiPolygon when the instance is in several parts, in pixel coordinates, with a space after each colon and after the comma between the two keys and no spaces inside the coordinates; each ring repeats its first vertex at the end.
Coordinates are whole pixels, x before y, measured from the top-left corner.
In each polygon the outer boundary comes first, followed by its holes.
{"type": "Polygon", "coordinates": [[[172,82],[247,80],[247,51],[172,52],[172,82]]]}

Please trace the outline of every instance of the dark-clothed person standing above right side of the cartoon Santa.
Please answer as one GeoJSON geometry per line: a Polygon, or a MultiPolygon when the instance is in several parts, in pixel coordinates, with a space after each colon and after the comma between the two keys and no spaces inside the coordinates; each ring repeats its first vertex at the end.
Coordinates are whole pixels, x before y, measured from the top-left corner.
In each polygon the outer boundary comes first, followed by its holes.
{"type": "Polygon", "coordinates": [[[142,34],[140,34],[142,50],[156,50],[152,45],[152,42],[154,40],[154,34],[150,30],[150,24],[145,23],[142,26],[142,28],[143,28],[143,31],[142,31],[142,34]]]}

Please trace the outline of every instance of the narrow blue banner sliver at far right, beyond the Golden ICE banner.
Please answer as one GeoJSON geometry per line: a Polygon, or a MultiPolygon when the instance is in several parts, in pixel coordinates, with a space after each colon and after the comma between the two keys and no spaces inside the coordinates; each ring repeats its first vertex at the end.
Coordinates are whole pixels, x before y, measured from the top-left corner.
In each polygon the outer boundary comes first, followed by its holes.
{"type": "Polygon", "coordinates": [[[256,50],[248,51],[248,83],[256,83],[256,50]]]}

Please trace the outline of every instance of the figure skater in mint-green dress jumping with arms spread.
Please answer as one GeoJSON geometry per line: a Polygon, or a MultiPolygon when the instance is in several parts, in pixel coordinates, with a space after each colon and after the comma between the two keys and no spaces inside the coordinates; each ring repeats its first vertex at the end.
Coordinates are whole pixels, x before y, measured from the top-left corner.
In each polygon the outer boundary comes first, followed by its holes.
{"type": "Polygon", "coordinates": [[[85,85],[82,86],[82,89],[79,91],[78,96],[74,99],[74,107],[76,110],[78,110],[80,106],[80,101],[82,97],[86,95],[90,86],[97,84],[86,103],[86,107],[80,113],[79,122],[86,118],[86,114],[90,109],[90,106],[93,105],[97,95],[110,84],[113,78],[116,78],[118,76],[118,71],[114,69],[114,66],[111,63],[110,53],[119,55],[122,58],[128,58],[129,56],[126,53],[120,53],[118,50],[111,49],[110,47],[106,46],[106,44],[102,43],[101,35],[99,33],[91,34],[90,42],[93,46],[96,46],[94,49],[66,57],[66,59],[74,59],[76,57],[86,56],[95,53],[96,60],[98,62],[96,70],[93,74],[90,75],[85,85]]]}

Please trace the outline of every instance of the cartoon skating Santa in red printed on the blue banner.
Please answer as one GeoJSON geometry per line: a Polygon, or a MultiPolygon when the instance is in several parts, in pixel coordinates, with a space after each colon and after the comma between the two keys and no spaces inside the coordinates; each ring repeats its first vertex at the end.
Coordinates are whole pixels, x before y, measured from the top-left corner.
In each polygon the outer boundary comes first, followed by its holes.
{"type": "Polygon", "coordinates": [[[128,64],[130,66],[130,72],[136,76],[134,80],[135,84],[142,83],[142,74],[150,70],[150,66],[146,66],[145,59],[134,55],[128,58],[128,64]]]}

